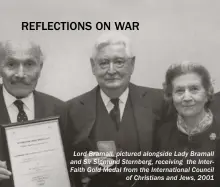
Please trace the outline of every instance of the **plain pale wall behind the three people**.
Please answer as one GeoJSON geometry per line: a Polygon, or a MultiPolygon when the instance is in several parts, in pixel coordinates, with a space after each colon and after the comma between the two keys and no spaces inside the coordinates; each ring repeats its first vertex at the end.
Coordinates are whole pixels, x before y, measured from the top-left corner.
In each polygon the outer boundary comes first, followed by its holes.
{"type": "Polygon", "coordinates": [[[31,39],[46,60],[37,89],[68,100],[96,85],[89,57],[103,32],[22,31],[22,21],[137,21],[125,31],[133,41],[136,67],[132,82],[161,88],[171,63],[205,65],[220,90],[219,0],[0,0],[0,40],[31,39]]]}

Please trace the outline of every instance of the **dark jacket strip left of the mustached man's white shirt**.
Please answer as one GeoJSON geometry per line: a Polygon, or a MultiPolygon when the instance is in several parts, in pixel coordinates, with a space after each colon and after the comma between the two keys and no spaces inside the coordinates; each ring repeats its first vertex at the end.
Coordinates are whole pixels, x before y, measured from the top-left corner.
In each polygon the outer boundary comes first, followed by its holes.
{"type": "Polygon", "coordinates": [[[3,90],[2,90],[2,86],[0,87],[0,124],[7,124],[7,123],[11,123],[10,117],[8,115],[8,110],[6,108],[5,105],[5,100],[3,97],[3,90]]]}

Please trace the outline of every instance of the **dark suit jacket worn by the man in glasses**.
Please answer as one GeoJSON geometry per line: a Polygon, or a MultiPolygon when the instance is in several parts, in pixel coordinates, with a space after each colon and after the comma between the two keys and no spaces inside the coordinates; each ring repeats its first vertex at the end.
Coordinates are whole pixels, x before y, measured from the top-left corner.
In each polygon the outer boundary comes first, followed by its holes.
{"type": "MultiPolygon", "coordinates": [[[[93,90],[67,102],[63,123],[66,124],[64,144],[66,144],[66,153],[69,159],[73,159],[71,156],[73,150],[85,151],[85,148],[90,146],[88,137],[96,120],[96,94],[98,89],[95,87],[93,90]]],[[[151,151],[154,124],[161,119],[162,109],[164,108],[162,91],[130,84],[129,92],[141,151],[151,151]]],[[[78,179],[77,177],[75,182],[78,179]]]]}

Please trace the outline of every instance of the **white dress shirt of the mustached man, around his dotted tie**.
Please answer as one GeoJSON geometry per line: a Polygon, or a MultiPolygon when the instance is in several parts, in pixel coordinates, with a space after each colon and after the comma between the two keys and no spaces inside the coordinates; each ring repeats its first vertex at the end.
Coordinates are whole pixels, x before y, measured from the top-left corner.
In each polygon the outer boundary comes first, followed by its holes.
{"type": "MultiPolygon", "coordinates": [[[[8,91],[3,86],[3,97],[5,100],[5,105],[11,120],[11,123],[17,122],[18,108],[15,106],[14,102],[17,100],[16,97],[8,93],[8,91]]],[[[27,97],[20,99],[24,105],[24,111],[27,114],[28,120],[34,119],[34,95],[29,94],[27,97]]]]}

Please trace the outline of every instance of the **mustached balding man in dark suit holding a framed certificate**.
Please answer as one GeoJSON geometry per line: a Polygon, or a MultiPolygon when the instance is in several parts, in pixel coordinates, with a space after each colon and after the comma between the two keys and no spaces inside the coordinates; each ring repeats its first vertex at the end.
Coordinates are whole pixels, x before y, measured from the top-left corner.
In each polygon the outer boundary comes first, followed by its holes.
{"type": "MultiPolygon", "coordinates": [[[[63,102],[35,91],[43,66],[43,54],[30,42],[0,43],[0,125],[59,115],[63,102]]],[[[0,132],[1,133],[1,132],[0,132]]],[[[0,134],[0,186],[11,187],[11,172],[0,134]]],[[[21,168],[22,169],[22,168],[21,168]]]]}

